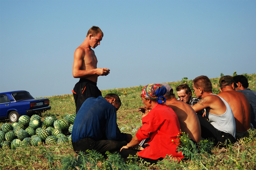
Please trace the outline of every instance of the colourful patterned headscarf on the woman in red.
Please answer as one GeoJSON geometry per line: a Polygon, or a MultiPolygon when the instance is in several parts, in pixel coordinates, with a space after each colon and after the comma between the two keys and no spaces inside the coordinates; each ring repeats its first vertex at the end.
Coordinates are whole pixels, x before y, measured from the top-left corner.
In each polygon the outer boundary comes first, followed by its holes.
{"type": "Polygon", "coordinates": [[[164,104],[166,98],[163,95],[166,94],[166,91],[166,87],[162,84],[149,84],[142,89],[141,97],[156,100],[158,104],[164,104]]]}

